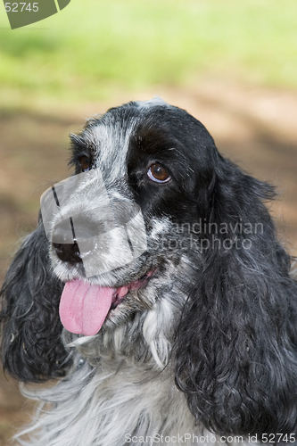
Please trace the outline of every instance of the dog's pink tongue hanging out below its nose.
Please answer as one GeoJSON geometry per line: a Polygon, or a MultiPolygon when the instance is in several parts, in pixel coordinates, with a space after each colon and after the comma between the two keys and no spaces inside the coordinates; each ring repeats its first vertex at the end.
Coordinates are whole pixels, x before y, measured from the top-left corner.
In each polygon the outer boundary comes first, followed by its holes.
{"type": "Polygon", "coordinates": [[[96,335],[111,308],[116,288],[72,280],[64,286],[60,301],[62,325],[71,333],[96,335]]]}

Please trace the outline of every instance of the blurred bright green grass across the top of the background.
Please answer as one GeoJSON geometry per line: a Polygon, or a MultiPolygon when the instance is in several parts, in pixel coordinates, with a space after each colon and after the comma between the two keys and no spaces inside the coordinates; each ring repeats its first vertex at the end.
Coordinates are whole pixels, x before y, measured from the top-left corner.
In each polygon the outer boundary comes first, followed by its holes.
{"type": "Polygon", "coordinates": [[[72,0],[13,31],[0,8],[3,104],[93,102],[203,78],[297,89],[296,0],[72,0]]]}

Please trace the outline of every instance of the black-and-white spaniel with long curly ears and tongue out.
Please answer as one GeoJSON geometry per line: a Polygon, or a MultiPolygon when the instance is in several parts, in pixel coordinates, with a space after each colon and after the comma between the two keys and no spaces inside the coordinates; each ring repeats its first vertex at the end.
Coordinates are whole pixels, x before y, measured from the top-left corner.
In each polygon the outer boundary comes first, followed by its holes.
{"type": "Polygon", "coordinates": [[[293,443],[297,284],[274,187],[160,98],[70,135],[2,288],[22,445],[293,443]],[[29,383],[45,383],[34,385],[29,383]]]}

